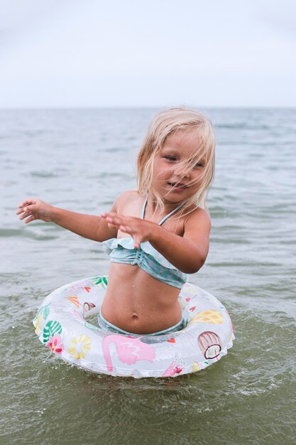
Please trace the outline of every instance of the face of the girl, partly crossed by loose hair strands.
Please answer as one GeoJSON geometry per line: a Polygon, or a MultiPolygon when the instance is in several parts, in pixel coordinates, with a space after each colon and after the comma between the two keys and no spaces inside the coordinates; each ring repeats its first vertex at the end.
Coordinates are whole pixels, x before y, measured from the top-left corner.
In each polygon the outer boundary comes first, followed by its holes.
{"type": "Polygon", "coordinates": [[[153,164],[153,188],[164,202],[178,203],[197,193],[202,183],[204,160],[190,165],[197,156],[196,131],[177,130],[170,134],[153,164]],[[192,162],[192,161],[191,161],[192,162]]]}

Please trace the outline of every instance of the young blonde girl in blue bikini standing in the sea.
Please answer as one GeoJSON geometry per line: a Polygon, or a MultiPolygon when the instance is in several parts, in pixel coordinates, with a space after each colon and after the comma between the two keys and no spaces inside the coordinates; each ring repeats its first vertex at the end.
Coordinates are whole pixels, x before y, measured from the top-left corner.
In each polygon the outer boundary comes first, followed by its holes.
{"type": "Polygon", "coordinates": [[[214,131],[201,113],[165,109],[138,154],[138,190],[121,193],[109,213],[82,215],[39,199],[19,205],[20,220],[53,222],[102,242],[111,264],[98,321],[116,333],[158,335],[184,327],[177,300],[187,274],[204,264],[211,220],[214,131]]]}

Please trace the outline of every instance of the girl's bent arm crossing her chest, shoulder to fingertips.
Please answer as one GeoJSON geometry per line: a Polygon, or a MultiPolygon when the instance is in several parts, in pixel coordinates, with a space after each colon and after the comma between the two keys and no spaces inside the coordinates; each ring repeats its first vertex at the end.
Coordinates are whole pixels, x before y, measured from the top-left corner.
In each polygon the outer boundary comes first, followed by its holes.
{"type": "Polygon", "coordinates": [[[197,272],[209,252],[211,219],[209,214],[199,208],[187,218],[185,232],[181,237],[161,225],[140,218],[102,213],[109,227],[117,227],[129,233],[138,248],[141,242],[149,241],[168,261],[185,274],[197,272]]]}

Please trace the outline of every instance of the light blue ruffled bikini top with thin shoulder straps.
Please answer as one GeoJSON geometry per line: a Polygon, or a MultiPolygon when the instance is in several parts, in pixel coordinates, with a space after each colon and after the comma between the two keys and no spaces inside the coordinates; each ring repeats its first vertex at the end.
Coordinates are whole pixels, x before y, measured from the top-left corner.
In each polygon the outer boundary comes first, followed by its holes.
{"type": "MultiPolygon", "coordinates": [[[[147,200],[148,197],[143,204],[141,219],[144,219],[147,200]]],[[[178,205],[158,224],[162,225],[165,220],[170,218],[170,216],[181,207],[182,204],[178,205]]],[[[111,238],[102,244],[104,251],[109,254],[111,262],[138,266],[151,277],[170,286],[178,287],[179,289],[187,282],[187,274],[184,274],[177,269],[177,267],[170,264],[148,241],[141,242],[138,249],[135,249],[134,241],[131,237],[111,238]]]]}

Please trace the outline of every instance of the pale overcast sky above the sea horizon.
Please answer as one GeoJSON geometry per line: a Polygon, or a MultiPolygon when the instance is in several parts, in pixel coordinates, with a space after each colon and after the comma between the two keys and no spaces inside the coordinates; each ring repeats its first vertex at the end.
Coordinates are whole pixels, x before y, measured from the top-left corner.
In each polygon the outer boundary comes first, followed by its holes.
{"type": "Polygon", "coordinates": [[[295,107],[295,0],[0,0],[0,107],[295,107]]]}

